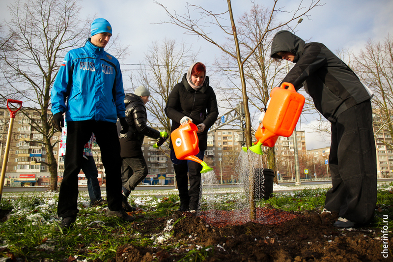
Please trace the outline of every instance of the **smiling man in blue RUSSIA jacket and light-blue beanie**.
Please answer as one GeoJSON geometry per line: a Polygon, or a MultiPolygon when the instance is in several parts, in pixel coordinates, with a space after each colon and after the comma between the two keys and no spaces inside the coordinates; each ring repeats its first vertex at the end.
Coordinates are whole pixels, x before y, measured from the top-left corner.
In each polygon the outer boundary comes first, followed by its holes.
{"type": "Polygon", "coordinates": [[[91,38],[84,47],[69,51],[52,88],[53,126],[61,131],[63,114],[67,121],[67,147],[64,176],[60,185],[57,215],[60,228],[70,228],[78,213],[78,174],[84,145],[91,133],[100,146],[106,170],[107,216],[133,221],[121,207],[121,159],[116,120],[122,133],[128,131],[125,120],[123,80],[118,60],[104,51],[112,36],[112,27],[103,18],[91,24],[91,38]]]}

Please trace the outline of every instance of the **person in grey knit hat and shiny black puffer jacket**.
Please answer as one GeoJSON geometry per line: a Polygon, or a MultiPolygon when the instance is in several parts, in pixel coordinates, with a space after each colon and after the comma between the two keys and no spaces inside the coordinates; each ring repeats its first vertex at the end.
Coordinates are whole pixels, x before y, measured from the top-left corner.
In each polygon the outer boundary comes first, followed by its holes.
{"type": "Polygon", "coordinates": [[[154,139],[167,138],[168,133],[157,131],[147,125],[147,114],[145,104],[149,101],[150,91],[140,86],[135,89],[133,94],[126,94],[124,103],[126,106],[126,120],[128,132],[120,133],[118,125],[118,134],[120,141],[121,156],[121,180],[122,180],[122,207],[126,211],[135,211],[136,208],[128,204],[128,196],[131,191],[142,181],[149,173],[146,161],[143,157],[142,145],[144,136],[154,139]]]}

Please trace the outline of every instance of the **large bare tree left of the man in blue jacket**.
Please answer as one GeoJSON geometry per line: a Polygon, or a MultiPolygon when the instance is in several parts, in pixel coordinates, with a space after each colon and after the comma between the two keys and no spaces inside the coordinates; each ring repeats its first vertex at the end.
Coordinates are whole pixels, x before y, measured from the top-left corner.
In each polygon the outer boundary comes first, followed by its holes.
{"type": "Polygon", "coordinates": [[[29,107],[25,116],[32,130],[40,134],[29,142],[46,147],[47,159],[43,163],[51,174],[51,190],[57,189],[53,147],[58,142],[51,141],[56,132],[49,114],[51,88],[65,53],[83,45],[88,37],[90,21],[80,19],[79,2],[17,0],[9,6],[12,19],[5,24],[8,35],[1,39],[1,99],[22,100],[29,107]],[[29,114],[31,111],[33,114],[29,114]]]}

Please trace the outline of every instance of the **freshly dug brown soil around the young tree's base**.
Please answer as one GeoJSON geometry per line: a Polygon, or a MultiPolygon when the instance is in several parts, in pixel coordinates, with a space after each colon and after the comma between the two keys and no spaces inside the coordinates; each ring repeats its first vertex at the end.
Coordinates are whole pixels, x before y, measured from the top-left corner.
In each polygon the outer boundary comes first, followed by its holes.
{"type": "MultiPolygon", "coordinates": [[[[264,219],[245,224],[240,221],[207,223],[203,214],[197,216],[189,212],[146,219],[143,223],[134,223],[134,230],[150,238],[165,232],[168,221],[172,221],[171,235],[168,234],[162,244],[157,242],[155,247],[123,245],[111,262],[172,262],[185,257],[182,261],[393,261],[392,237],[388,240],[389,256],[384,258],[382,229],[337,229],[333,227],[337,213],[258,208],[257,214],[264,219]],[[272,217],[274,219],[269,219],[272,217]]],[[[225,212],[222,215],[225,216],[225,212]]]]}

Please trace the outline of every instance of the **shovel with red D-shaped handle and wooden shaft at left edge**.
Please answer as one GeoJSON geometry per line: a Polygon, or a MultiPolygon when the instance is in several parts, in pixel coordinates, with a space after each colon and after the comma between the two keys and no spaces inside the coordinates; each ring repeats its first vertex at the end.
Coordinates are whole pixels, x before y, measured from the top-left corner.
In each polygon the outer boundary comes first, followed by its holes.
{"type": "MultiPolygon", "coordinates": [[[[11,112],[11,117],[9,120],[9,127],[8,127],[8,135],[7,135],[7,143],[5,144],[5,152],[4,152],[4,158],[3,158],[3,165],[1,168],[1,176],[0,176],[0,202],[1,202],[1,196],[3,193],[3,187],[4,187],[4,178],[5,178],[5,170],[7,169],[7,162],[8,162],[8,152],[9,152],[9,146],[10,146],[10,141],[11,141],[11,134],[12,134],[12,127],[14,125],[14,118],[16,115],[16,112],[18,112],[19,109],[22,107],[22,101],[19,100],[13,100],[13,99],[7,99],[7,108],[11,112]],[[9,103],[15,103],[19,104],[19,108],[15,111],[12,111],[9,108],[9,103]]],[[[4,222],[5,220],[8,219],[9,214],[11,213],[11,210],[8,209],[1,209],[0,208],[0,222],[4,222]]]]}

